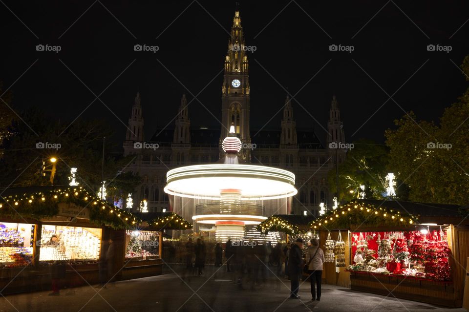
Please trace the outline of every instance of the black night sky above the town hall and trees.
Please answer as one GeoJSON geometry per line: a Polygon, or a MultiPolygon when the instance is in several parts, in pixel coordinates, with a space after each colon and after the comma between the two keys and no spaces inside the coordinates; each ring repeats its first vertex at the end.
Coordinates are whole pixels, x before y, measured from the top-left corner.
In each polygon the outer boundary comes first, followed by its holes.
{"type": "MultiPolygon", "coordinates": [[[[284,88],[294,95],[315,75],[295,96],[294,113],[298,128],[314,127],[320,139],[333,94],[348,141],[383,142],[384,130],[404,110],[437,121],[467,88],[457,66],[469,54],[468,1],[240,2],[246,44],[256,46],[250,54],[253,129],[266,123],[265,129],[278,129],[281,111],[274,114],[284,104],[284,88]],[[354,51],[329,51],[330,44],[354,51]],[[427,51],[428,44],[452,50],[427,51]],[[397,89],[397,104],[384,104],[397,89]]],[[[210,112],[193,101],[191,123],[220,127],[212,114],[221,115],[220,71],[235,1],[4,3],[0,81],[14,83],[15,110],[37,105],[64,122],[103,116],[120,140],[139,90],[149,138],[174,117],[183,91],[192,100],[205,87],[197,99],[210,112]],[[137,43],[159,51],[133,51],[137,43]],[[37,44],[62,50],[36,51],[37,44]],[[65,65],[96,95],[107,88],[100,99],[109,109],[96,100],[85,110],[95,96],[65,65]]]]}

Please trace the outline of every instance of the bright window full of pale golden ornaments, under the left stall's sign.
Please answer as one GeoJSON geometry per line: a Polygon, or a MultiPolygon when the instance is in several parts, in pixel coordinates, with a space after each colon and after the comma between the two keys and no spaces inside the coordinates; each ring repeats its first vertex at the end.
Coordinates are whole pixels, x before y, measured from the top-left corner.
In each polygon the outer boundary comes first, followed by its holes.
{"type": "Polygon", "coordinates": [[[43,225],[39,261],[99,259],[101,229],[43,225]]]}

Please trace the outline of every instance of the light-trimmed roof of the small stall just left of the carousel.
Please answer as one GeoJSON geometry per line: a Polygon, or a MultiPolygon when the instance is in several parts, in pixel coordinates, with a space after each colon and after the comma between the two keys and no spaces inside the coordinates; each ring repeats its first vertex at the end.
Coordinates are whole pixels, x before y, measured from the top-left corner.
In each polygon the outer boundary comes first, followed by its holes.
{"type": "Polygon", "coordinates": [[[149,230],[192,229],[192,224],[174,212],[138,212],[135,215],[143,220],[149,230]]]}

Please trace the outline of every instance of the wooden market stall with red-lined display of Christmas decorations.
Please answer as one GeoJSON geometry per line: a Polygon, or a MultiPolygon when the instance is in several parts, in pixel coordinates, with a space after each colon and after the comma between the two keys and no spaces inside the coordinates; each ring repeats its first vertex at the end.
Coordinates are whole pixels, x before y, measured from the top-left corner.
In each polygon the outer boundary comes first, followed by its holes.
{"type": "Polygon", "coordinates": [[[461,307],[469,220],[459,206],[356,200],[311,222],[348,233],[353,290],[461,307]]]}

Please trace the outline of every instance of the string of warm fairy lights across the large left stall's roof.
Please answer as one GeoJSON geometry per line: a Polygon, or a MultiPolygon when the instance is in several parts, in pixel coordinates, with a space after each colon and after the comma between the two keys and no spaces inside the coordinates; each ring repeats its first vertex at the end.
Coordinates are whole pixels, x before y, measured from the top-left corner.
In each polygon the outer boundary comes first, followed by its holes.
{"type": "MultiPolygon", "coordinates": [[[[21,213],[22,208],[39,208],[39,205],[52,202],[57,204],[60,202],[78,202],[82,207],[89,207],[90,210],[100,215],[107,216],[109,221],[117,219],[122,222],[124,226],[141,225],[142,220],[135,217],[130,212],[121,210],[118,207],[109,205],[107,202],[99,199],[93,194],[90,194],[83,187],[65,187],[58,189],[51,189],[48,191],[37,191],[32,193],[15,194],[10,196],[3,196],[0,198],[0,213],[1,208],[12,208],[21,213]],[[3,203],[2,203],[3,202],[3,203]],[[100,207],[100,208],[98,208],[100,207]]],[[[41,214],[41,213],[36,213],[41,214]]],[[[50,215],[50,211],[44,211],[44,215],[50,215]]]]}

